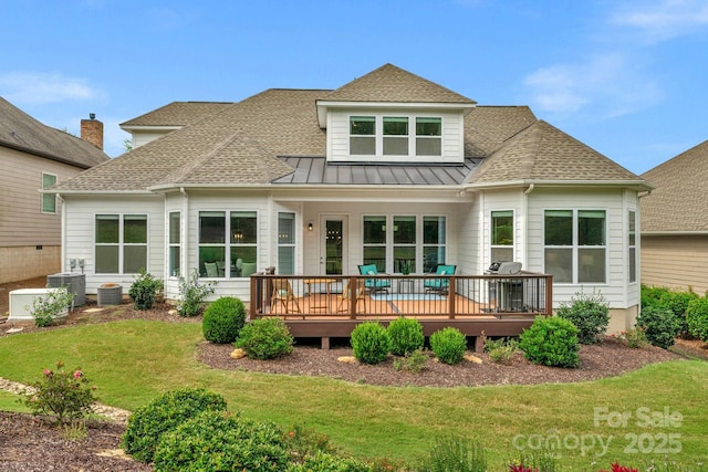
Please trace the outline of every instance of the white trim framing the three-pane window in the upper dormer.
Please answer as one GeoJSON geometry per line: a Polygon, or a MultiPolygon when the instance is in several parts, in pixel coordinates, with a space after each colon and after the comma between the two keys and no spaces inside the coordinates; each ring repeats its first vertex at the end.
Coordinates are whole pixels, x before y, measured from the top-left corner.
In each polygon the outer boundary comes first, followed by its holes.
{"type": "MultiPolygon", "coordinates": [[[[415,114],[410,114],[410,113],[396,113],[396,112],[389,112],[389,113],[350,113],[346,116],[346,136],[347,136],[347,140],[346,140],[346,146],[347,146],[347,154],[350,156],[351,159],[354,160],[361,160],[361,159],[375,159],[375,160],[382,160],[382,161],[397,161],[397,160],[408,160],[408,159],[416,159],[416,160],[421,160],[421,161],[427,161],[427,160],[431,160],[431,159],[441,159],[444,157],[444,138],[445,138],[445,117],[441,115],[436,115],[435,113],[415,113],[415,114]],[[352,123],[352,118],[353,117],[373,117],[375,118],[375,126],[374,126],[374,138],[375,138],[375,149],[376,149],[376,154],[372,154],[372,155],[365,155],[365,154],[356,154],[356,155],[352,155],[352,150],[351,150],[351,139],[352,139],[352,134],[351,134],[351,123],[352,123]],[[408,154],[406,155],[385,155],[384,154],[384,118],[408,118],[408,134],[403,136],[398,136],[399,138],[406,138],[408,139],[408,154]],[[434,139],[434,138],[438,138],[440,139],[440,155],[439,156],[435,156],[435,155],[417,155],[416,154],[416,139],[418,138],[418,135],[416,134],[416,118],[439,118],[440,119],[440,136],[435,137],[435,136],[420,136],[421,138],[427,138],[427,139],[434,139]]],[[[354,135],[356,136],[356,135],[354,135]]],[[[365,135],[365,136],[371,136],[371,135],[365,135]]],[[[362,136],[360,136],[362,137],[362,136]]],[[[393,138],[395,138],[396,136],[391,136],[393,138]]]]}

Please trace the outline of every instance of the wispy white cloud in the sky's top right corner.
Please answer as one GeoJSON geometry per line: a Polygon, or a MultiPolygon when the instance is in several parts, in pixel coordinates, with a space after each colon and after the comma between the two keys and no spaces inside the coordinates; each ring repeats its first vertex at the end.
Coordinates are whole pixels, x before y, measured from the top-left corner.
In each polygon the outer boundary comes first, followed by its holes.
{"type": "Polygon", "coordinates": [[[637,29],[646,41],[660,42],[708,28],[706,0],[659,0],[624,4],[610,21],[637,29]]]}

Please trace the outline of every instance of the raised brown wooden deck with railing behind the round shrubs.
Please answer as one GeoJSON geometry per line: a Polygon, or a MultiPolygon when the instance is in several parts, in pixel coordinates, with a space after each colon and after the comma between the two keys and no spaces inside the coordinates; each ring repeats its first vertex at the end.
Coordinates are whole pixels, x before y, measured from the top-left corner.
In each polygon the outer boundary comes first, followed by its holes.
{"type": "Polygon", "coordinates": [[[278,316],[295,338],[350,337],[367,321],[415,317],[429,336],[454,326],[466,336],[517,336],[552,314],[552,276],[266,275],[251,276],[250,318],[278,316]]]}

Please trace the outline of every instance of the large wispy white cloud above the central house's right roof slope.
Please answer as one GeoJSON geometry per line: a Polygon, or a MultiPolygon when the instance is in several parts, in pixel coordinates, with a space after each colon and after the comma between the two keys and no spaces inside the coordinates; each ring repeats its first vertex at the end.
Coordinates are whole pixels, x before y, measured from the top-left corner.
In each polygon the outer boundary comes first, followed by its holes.
{"type": "Polygon", "coordinates": [[[622,53],[542,67],[528,75],[524,85],[535,108],[556,115],[620,116],[650,106],[662,97],[657,84],[622,53]]]}

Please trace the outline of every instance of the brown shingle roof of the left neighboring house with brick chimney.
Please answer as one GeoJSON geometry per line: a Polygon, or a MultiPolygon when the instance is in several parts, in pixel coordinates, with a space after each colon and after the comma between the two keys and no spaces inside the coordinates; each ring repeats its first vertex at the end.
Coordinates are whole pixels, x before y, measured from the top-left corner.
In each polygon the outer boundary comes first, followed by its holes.
{"type": "Polygon", "coordinates": [[[0,97],[0,146],[82,169],[110,159],[91,143],[43,125],[2,97],[0,97]]]}

